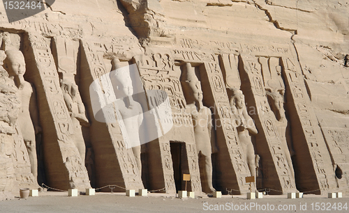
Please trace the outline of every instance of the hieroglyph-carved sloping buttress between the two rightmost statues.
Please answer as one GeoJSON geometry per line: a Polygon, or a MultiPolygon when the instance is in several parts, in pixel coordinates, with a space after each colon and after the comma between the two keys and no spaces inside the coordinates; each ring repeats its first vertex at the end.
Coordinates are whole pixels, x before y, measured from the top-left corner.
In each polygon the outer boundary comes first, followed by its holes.
{"type": "Polygon", "coordinates": [[[260,155],[265,164],[267,161],[273,161],[276,168],[275,170],[269,169],[269,174],[266,171],[263,172],[264,175],[269,177],[263,182],[264,187],[278,187],[280,191],[285,192],[295,191],[295,180],[286,160],[279,132],[274,120],[271,119],[274,114],[267,101],[261,66],[254,56],[242,54],[240,57],[244,65],[244,74],[251,84],[251,95],[255,102],[253,107],[262,109],[262,111],[252,115],[259,132],[256,139],[257,154],[260,155]],[[268,152],[265,151],[266,147],[269,150],[268,152]],[[259,153],[260,150],[264,151],[259,153]],[[272,173],[273,171],[274,173],[272,173]]]}

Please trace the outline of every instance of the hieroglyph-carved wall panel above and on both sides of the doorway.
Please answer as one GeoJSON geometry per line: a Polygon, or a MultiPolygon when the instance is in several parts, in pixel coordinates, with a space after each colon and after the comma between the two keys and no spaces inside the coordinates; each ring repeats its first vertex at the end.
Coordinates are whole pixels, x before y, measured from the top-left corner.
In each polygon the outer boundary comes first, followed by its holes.
{"type": "MultiPolygon", "coordinates": [[[[151,52],[151,49],[149,49],[151,52]]],[[[170,52],[154,52],[141,56],[135,56],[135,61],[138,63],[138,69],[140,70],[140,77],[142,79],[143,86],[146,90],[149,107],[156,107],[156,103],[161,102],[161,97],[157,97],[154,93],[152,95],[152,90],[160,90],[165,92],[168,95],[168,100],[170,109],[172,109],[173,114],[173,122],[174,122],[174,132],[176,131],[176,126],[181,127],[184,126],[185,123],[190,123],[190,121],[185,121],[185,117],[181,118],[181,113],[184,111],[185,107],[185,99],[183,95],[183,91],[181,89],[181,83],[179,81],[180,72],[175,72],[174,67],[174,58],[170,52]]],[[[158,118],[159,123],[163,123],[161,121],[162,118],[158,118]]],[[[174,171],[172,168],[172,158],[170,154],[170,140],[175,140],[175,138],[165,138],[159,139],[160,143],[160,154],[161,161],[163,162],[162,170],[164,173],[164,184],[167,192],[175,191],[176,188],[174,186],[174,171]]],[[[186,146],[188,143],[193,143],[193,141],[185,141],[186,146]]],[[[192,152],[189,152],[188,148],[186,149],[188,158],[189,156],[195,156],[192,152]]],[[[192,161],[188,159],[188,163],[191,164],[192,161]]],[[[197,159],[195,161],[198,164],[197,159]]],[[[193,166],[189,166],[189,170],[192,176],[199,176],[198,169],[191,170],[190,168],[193,166]]],[[[192,182],[192,189],[201,190],[201,185],[198,187],[198,183],[192,182]]]]}

